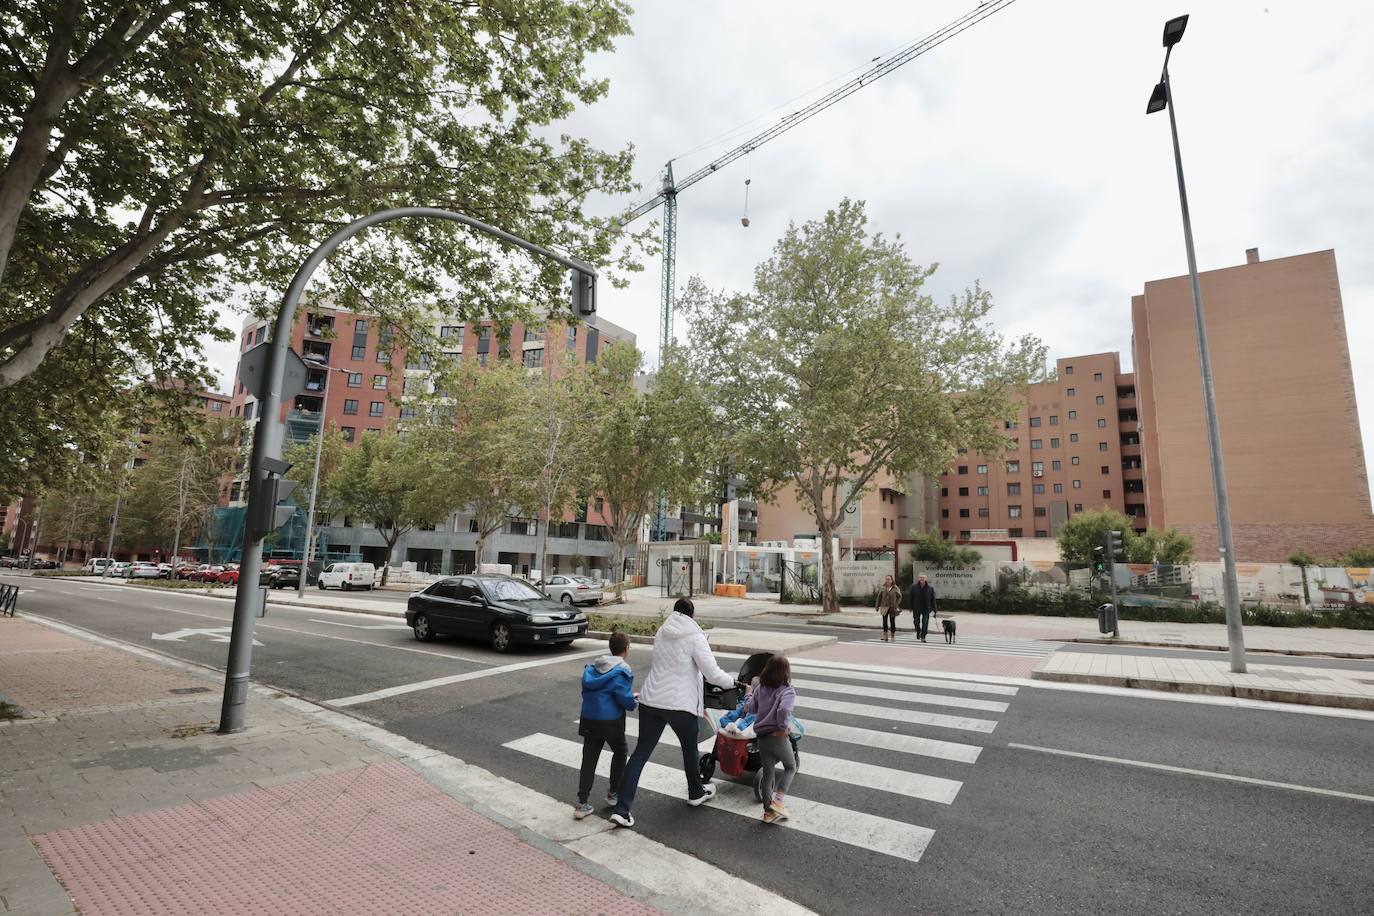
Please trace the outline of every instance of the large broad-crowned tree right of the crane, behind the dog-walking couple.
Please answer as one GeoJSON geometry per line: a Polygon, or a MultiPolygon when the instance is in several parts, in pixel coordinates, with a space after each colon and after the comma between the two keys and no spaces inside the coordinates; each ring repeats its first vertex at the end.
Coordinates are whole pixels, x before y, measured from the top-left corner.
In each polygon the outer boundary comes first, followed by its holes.
{"type": "Polygon", "coordinates": [[[794,486],[815,516],[826,611],[840,607],[831,544],[849,505],[882,477],[943,472],[956,448],[998,453],[1015,393],[1044,372],[1039,341],[992,331],[987,291],[923,294],[933,271],[842,201],[790,225],[752,291],[694,279],[683,295],[731,467],[765,500],[794,486]]]}

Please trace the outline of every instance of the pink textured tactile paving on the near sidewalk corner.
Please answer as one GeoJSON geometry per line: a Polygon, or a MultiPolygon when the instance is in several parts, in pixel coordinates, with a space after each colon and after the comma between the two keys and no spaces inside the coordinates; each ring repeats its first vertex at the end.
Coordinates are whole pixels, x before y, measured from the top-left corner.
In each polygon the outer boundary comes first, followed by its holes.
{"type": "Polygon", "coordinates": [[[34,838],[85,915],[653,913],[401,764],[34,838]]]}

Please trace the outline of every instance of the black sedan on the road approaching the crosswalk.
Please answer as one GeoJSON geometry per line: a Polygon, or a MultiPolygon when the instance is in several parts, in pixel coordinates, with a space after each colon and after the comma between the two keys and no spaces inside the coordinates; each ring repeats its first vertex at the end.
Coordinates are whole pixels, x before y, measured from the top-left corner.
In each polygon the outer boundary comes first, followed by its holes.
{"type": "Polygon", "coordinates": [[[511,575],[455,575],[440,580],[405,603],[405,625],[415,639],[466,636],[497,652],[515,645],[563,645],[587,632],[587,615],[511,575]]]}

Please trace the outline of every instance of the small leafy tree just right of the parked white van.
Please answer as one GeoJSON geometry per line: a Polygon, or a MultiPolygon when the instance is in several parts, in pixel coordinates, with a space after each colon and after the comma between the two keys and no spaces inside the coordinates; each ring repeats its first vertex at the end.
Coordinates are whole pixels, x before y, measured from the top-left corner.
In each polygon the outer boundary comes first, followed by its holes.
{"type": "Polygon", "coordinates": [[[382,585],[401,536],[419,525],[438,525],[453,509],[449,488],[426,486],[441,457],[425,437],[364,434],[328,478],[342,511],[367,519],[386,542],[382,585]]]}

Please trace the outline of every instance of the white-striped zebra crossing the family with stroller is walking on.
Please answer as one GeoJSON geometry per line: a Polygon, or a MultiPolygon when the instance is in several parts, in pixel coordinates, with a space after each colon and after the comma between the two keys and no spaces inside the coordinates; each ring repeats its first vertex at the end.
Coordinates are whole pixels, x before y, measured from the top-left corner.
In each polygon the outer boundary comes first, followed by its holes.
{"type": "MultiPolygon", "coordinates": [[[[956,802],[969,768],[982,753],[984,736],[993,732],[1020,688],[809,665],[796,658],[791,663],[797,715],[807,733],[794,792],[787,795],[791,817],[786,828],[919,861],[934,838],[929,818],[956,802]],[[867,757],[874,759],[863,759],[870,750],[874,753],[867,757]],[[892,816],[897,812],[907,817],[892,816]]],[[[708,714],[720,715],[714,710],[708,714]]],[[[627,733],[639,735],[633,714],[627,718],[627,733]]],[[[504,747],[576,770],[581,742],[572,729],[565,735],[536,732],[504,747]]],[[[706,753],[714,735],[703,724],[701,736],[698,750],[706,753]]],[[[610,775],[609,751],[602,754],[598,775],[610,775]]],[[[757,823],[760,805],[752,779],[734,781],[717,773],[709,810],[757,823]]],[[[666,729],[644,768],[640,792],[683,798],[684,791],[677,739],[666,729]]]]}

